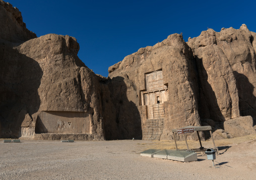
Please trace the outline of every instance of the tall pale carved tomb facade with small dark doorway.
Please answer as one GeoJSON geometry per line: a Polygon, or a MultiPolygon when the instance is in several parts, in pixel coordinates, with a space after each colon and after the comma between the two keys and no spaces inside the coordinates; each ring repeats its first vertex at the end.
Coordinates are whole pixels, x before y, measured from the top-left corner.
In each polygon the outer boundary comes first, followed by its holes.
{"type": "Polygon", "coordinates": [[[144,106],[143,139],[160,139],[165,118],[164,102],[168,101],[168,84],[164,84],[163,71],[145,74],[145,90],[141,91],[141,105],[144,106]]]}

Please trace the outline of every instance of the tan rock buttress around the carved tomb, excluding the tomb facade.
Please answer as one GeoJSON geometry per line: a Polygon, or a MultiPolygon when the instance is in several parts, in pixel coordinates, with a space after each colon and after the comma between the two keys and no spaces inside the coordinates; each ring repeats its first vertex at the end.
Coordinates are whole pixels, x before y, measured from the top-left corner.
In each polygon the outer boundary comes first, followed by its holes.
{"type": "MultiPolygon", "coordinates": [[[[181,35],[173,34],[163,42],[153,47],[141,48],[109,67],[109,77],[122,77],[126,80],[125,86],[130,87],[126,93],[127,98],[140,110],[142,129],[146,132],[147,128],[153,127],[147,126],[149,120],[146,114],[149,112],[146,109],[149,105],[143,105],[145,99],[141,94],[147,88],[145,74],[162,71],[163,85],[168,87],[168,100],[162,102],[165,113],[162,116],[163,128],[157,128],[155,131],[162,131],[161,138],[166,139],[170,138],[172,128],[200,125],[197,105],[198,82],[194,68],[196,64],[193,53],[181,35]]],[[[118,86],[113,86],[115,87],[118,86]]]]}

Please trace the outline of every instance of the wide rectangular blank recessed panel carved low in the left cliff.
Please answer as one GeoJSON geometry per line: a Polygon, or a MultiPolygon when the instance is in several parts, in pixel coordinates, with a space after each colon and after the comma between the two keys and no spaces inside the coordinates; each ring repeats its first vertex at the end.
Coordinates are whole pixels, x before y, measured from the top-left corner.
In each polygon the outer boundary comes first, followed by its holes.
{"type": "Polygon", "coordinates": [[[85,112],[42,111],[36,120],[35,133],[91,134],[90,115],[85,112]]]}

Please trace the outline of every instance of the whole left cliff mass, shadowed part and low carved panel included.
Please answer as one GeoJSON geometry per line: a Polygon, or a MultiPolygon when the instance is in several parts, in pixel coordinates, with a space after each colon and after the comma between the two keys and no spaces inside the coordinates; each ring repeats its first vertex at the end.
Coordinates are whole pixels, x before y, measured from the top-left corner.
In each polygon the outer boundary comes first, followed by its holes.
{"type": "Polygon", "coordinates": [[[3,1],[0,8],[0,136],[54,139],[68,133],[104,139],[101,78],[78,58],[77,40],[36,38],[18,9],[3,1]]]}

